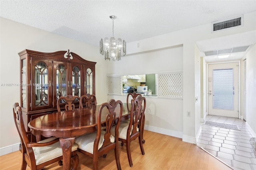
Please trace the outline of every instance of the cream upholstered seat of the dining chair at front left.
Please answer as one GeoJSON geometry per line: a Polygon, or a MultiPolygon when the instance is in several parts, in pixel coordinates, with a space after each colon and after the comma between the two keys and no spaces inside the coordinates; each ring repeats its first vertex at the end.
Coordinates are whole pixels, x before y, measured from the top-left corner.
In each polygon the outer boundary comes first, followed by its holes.
{"type": "MultiPolygon", "coordinates": [[[[38,143],[46,143],[56,139],[56,137],[47,138],[45,140],[41,140],[38,143]]],[[[72,146],[72,152],[77,150],[78,145],[76,143],[72,146]]],[[[36,159],[36,165],[47,162],[48,160],[52,160],[54,158],[58,158],[62,156],[62,148],[60,146],[60,142],[56,142],[49,146],[42,147],[32,147],[36,159]]]]}

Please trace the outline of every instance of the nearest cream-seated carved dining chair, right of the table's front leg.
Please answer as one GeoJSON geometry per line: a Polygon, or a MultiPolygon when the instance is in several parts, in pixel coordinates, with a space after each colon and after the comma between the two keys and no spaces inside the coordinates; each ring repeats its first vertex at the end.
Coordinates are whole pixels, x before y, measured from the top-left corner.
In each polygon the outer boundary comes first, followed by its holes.
{"type": "Polygon", "coordinates": [[[94,170],[98,170],[98,157],[106,156],[111,149],[114,149],[115,152],[117,169],[121,170],[118,154],[118,128],[122,112],[123,105],[120,100],[115,101],[111,99],[109,103],[102,103],[98,112],[98,130],[75,139],[75,142],[78,144],[78,151],[92,158],[94,170]],[[106,119],[102,117],[106,117],[106,119]],[[106,121],[106,130],[101,129],[102,121],[106,121]],[[116,123],[116,126],[114,133],[111,134],[110,129],[114,123],[116,123]]]}

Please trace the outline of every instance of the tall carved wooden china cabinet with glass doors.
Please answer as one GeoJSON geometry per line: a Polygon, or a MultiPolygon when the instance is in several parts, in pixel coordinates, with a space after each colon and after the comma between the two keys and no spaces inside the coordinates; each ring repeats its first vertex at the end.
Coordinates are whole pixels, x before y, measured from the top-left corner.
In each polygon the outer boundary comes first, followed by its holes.
{"type": "MultiPolygon", "coordinates": [[[[20,106],[25,125],[39,116],[56,112],[60,96],[95,95],[96,62],[69,50],[44,53],[25,49],[18,54],[20,106]]],[[[79,107],[79,102],[76,106],[79,107]]],[[[26,126],[26,130],[30,129],[26,126]]],[[[35,141],[35,136],[30,140],[35,141]]]]}

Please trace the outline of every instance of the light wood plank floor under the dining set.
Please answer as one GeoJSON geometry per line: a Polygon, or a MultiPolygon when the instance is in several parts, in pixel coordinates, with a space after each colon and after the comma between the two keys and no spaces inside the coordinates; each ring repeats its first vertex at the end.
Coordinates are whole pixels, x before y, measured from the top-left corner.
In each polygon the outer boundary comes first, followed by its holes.
{"type": "MultiPolygon", "coordinates": [[[[181,138],[167,136],[144,130],[145,155],[140,152],[138,139],[132,141],[132,162],[129,166],[126,146],[119,147],[120,163],[123,170],[232,170],[198,146],[182,142],[181,138]]],[[[78,152],[78,170],[92,169],[92,159],[78,152]]],[[[19,170],[22,154],[16,151],[0,156],[1,170],[19,170]]],[[[99,169],[114,170],[116,161],[114,151],[110,151],[106,158],[99,158],[99,169]]],[[[26,170],[30,170],[27,166],[26,170]]],[[[44,168],[44,170],[62,170],[58,163],[44,168]]]]}

